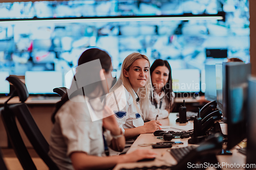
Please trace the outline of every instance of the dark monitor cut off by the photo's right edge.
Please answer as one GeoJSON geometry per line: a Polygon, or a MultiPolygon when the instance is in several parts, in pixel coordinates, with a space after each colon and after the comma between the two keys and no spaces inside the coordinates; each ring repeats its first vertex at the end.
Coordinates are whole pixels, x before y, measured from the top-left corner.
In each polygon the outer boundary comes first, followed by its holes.
{"type": "Polygon", "coordinates": [[[246,164],[256,164],[256,78],[248,81],[247,150],[246,164]]]}

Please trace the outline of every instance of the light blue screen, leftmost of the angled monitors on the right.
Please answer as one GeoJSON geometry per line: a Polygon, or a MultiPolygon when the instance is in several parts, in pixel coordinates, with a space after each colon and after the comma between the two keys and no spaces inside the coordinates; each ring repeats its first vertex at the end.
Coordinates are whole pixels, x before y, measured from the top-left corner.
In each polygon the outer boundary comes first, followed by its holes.
{"type": "Polygon", "coordinates": [[[217,100],[215,65],[205,65],[204,96],[207,101],[217,100]]]}

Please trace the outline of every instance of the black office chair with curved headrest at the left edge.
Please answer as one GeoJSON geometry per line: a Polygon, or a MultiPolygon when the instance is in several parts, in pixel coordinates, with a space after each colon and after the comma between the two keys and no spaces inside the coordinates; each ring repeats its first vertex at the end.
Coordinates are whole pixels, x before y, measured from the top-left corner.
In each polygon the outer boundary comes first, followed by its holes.
{"type": "Polygon", "coordinates": [[[48,156],[49,144],[37,127],[28,106],[25,103],[29,96],[26,85],[22,83],[16,76],[10,76],[6,78],[6,80],[13,84],[15,90],[10,94],[10,98],[5,102],[4,108],[1,108],[0,111],[2,113],[1,116],[7,131],[7,135],[20,164],[22,164],[25,170],[36,169],[23,142],[23,139],[20,136],[15,117],[24,130],[34,150],[47,164],[49,169],[58,169],[57,165],[48,156]],[[8,101],[14,96],[19,96],[19,101],[21,103],[9,105],[8,101]]]}

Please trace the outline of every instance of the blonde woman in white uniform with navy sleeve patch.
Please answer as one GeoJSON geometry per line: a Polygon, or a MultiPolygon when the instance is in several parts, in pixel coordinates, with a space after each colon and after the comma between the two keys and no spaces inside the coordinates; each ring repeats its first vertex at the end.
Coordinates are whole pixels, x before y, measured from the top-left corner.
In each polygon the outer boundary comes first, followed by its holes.
{"type": "Polygon", "coordinates": [[[124,59],[120,78],[106,98],[106,105],[114,111],[126,139],[160,129],[158,120],[144,123],[151,90],[150,61],[140,53],[130,54],[124,59]]]}

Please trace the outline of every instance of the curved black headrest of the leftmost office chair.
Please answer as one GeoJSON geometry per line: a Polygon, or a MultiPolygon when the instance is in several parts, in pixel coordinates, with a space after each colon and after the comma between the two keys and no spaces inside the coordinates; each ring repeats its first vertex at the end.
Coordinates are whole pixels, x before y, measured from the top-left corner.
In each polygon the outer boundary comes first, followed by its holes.
{"type": "Polygon", "coordinates": [[[20,81],[16,76],[9,76],[8,78],[6,78],[6,80],[13,84],[19,96],[19,101],[25,102],[29,97],[29,92],[26,85],[22,81],[20,81]]]}

